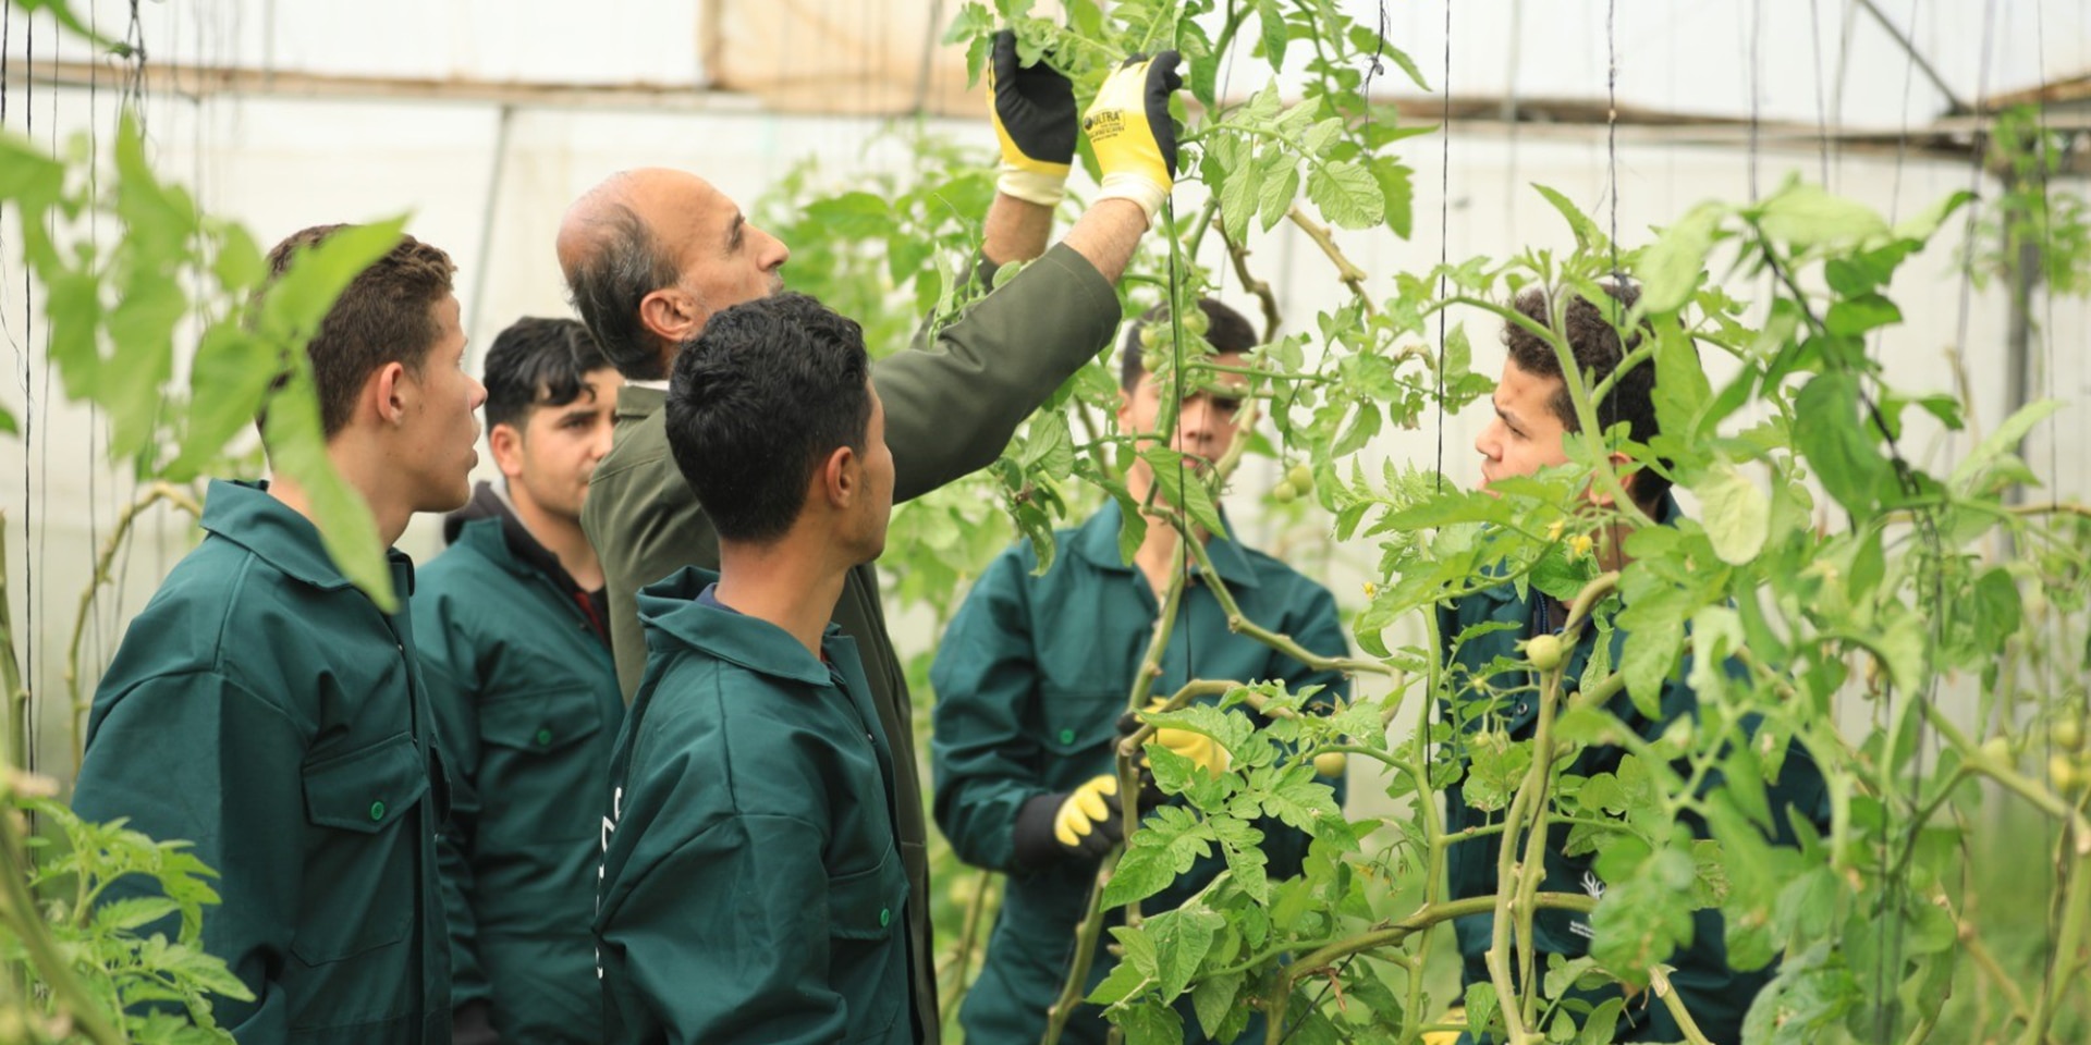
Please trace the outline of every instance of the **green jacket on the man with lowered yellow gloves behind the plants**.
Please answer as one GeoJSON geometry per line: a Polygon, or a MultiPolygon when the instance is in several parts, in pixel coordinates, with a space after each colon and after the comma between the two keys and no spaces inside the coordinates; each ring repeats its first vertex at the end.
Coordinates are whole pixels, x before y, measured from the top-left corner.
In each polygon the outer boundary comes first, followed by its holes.
{"type": "MultiPolygon", "coordinates": [[[[1037,554],[1029,543],[1004,552],[972,585],[930,667],[937,826],[966,863],[1008,872],[985,966],[960,1012],[968,1045],[1039,1039],[1096,880],[1096,861],[1075,857],[1018,865],[1014,828],[1027,800],[1115,767],[1119,715],[1161,612],[1146,577],[1119,558],[1121,518],[1119,506],[1106,504],[1079,529],[1062,531],[1060,556],[1043,577],[1031,575],[1037,554]]],[[[1244,617],[1315,654],[1349,652],[1328,589],[1225,535],[1215,535],[1207,554],[1244,617]]],[[[1154,679],[1158,696],[1190,679],[1284,679],[1292,690],[1326,686],[1326,698],[1349,692],[1340,673],[1313,671],[1230,631],[1213,589],[1196,579],[1179,612],[1154,679]]],[[[1340,800],[1342,782],[1334,784],[1340,800]]],[[[1280,821],[1259,828],[1271,878],[1299,874],[1307,836],[1280,821]]],[[[1181,905],[1223,865],[1217,855],[1198,861],[1142,907],[1181,905]]],[[[1100,940],[1092,986],[1112,963],[1100,940]]],[[[1196,1028],[1196,1020],[1186,1026],[1196,1028]]],[[[1106,1030],[1098,1009],[1085,1007],[1062,1041],[1102,1043],[1106,1030]]]]}

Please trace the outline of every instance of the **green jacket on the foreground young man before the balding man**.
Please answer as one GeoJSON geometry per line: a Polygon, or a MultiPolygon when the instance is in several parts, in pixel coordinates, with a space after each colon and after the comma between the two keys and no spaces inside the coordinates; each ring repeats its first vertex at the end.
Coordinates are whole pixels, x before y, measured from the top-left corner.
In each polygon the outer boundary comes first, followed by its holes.
{"type": "Polygon", "coordinates": [[[857,644],[813,656],[686,568],[617,738],[596,913],[611,1045],[907,1045],[901,769],[857,644]]]}

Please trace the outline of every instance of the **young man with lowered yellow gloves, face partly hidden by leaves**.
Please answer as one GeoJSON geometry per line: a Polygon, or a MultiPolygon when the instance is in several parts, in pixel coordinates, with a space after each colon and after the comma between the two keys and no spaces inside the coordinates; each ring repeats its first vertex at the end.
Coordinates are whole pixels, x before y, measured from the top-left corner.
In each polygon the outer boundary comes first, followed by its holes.
{"type": "MultiPolygon", "coordinates": [[[[1198,305],[1213,362],[1244,366],[1242,353],[1257,341],[1248,320],[1217,301],[1198,305]]],[[[1135,326],[1125,339],[1119,428],[1152,435],[1163,389],[1142,364],[1138,334],[1135,326]]],[[[1217,460],[1242,435],[1240,399],[1230,391],[1244,380],[1221,378],[1184,397],[1175,449],[1217,460]]],[[[1154,477],[1146,462],[1135,462],[1125,483],[1135,502],[1146,502],[1154,477]]],[[[937,826],[960,859],[1008,874],[987,961],[960,1009],[968,1043],[1027,1045],[1046,1032],[1098,859],[1119,842],[1117,803],[1123,796],[1117,794],[1112,748],[1125,694],[1154,633],[1161,594],[1184,568],[1177,531],[1161,518],[1150,520],[1127,564],[1119,556],[1121,518],[1112,502],[1079,529],[1062,531],[1062,554],[1043,577],[1033,577],[1037,554],[1029,543],[1004,552],[966,596],[930,667],[937,826]]],[[[1227,533],[1204,535],[1204,548],[1250,621],[1322,656],[1349,652],[1328,589],[1227,533]]],[[[1340,673],[1313,671],[1234,633],[1219,600],[1198,579],[1184,591],[1154,694],[1167,696],[1190,679],[1284,679],[1294,692],[1322,686],[1326,698],[1349,692],[1340,673]]],[[[1156,742],[1225,769],[1225,750],[1202,736],[1163,729],[1156,742]]],[[[1342,782],[1336,788],[1340,800],[1342,782]]],[[[1261,830],[1271,878],[1299,874],[1309,838],[1278,821],[1261,830]]],[[[1198,861],[1146,909],[1181,905],[1223,867],[1217,855],[1198,861]]],[[[1104,943],[1098,940],[1089,966],[1092,989],[1115,966],[1104,943]]],[[[1188,1005],[1186,1016],[1196,1037],[1198,1022],[1188,1005]]],[[[1083,1007],[1060,1041],[1100,1045],[1106,1032],[1098,1009],[1083,1007]]],[[[1253,1037],[1242,1041],[1261,1041],[1261,1020],[1244,1035],[1253,1037]]]]}

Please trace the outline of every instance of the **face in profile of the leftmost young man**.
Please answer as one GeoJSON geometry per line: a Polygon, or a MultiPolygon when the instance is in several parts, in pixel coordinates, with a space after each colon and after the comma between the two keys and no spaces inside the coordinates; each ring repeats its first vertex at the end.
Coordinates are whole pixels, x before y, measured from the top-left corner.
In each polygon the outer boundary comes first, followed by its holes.
{"type": "Polygon", "coordinates": [[[479,464],[479,403],[487,389],[464,370],[464,328],[458,324],[456,295],[431,305],[435,345],[420,372],[401,378],[412,395],[401,420],[404,481],[412,485],[416,512],[450,512],[473,495],[470,474],[479,464]]]}

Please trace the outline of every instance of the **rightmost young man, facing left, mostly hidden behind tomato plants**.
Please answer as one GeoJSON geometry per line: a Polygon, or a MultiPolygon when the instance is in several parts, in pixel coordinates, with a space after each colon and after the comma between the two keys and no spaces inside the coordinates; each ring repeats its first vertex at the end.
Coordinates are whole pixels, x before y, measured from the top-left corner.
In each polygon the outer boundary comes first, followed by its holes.
{"type": "MultiPolygon", "coordinates": [[[[1577,368],[1583,370],[1589,387],[1612,376],[1618,370],[1625,353],[1639,345],[1641,336],[1650,336],[1650,330],[1641,328],[1621,343],[1618,328],[1614,322],[1633,307],[1639,291],[1633,286],[1606,284],[1606,293],[1612,301],[1604,307],[1598,303],[1575,297],[1562,307],[1562,334],[1566,336],[1577,368]]],[[[1541,326],[1552,326],[1549,316],[1552,303],[1545,288],[1526,288],[1516,299],[1516,309],[1541,326]]],[[[1568,385],[1562,378],[1560,359],[1554,347],[1524,330],[1516,324],[1503,326],[1503,345],[1508,357],[1503,362],[1503,378],[1495,387],[1495,420],[1483,428],[1480,437],[1474,441],[1474,449],[1480,451],[1480,474],[1483,483],[1495,483],[1510,477],[1529,477],[1541,468],[1566,464],[1568,449],[1566,439],[1575,435],[1581,426],[1575,416],[1575,405],[1568,395],[1568,385]]],[[[1648,443],[1658,435],[1656,408],[1654,408],[1654,380],[1656,368],[1650,364],[1637,366],[1618,374],[1612,391],[1595,403],[1598,416],[1606,424],[1625,422],[1627,435],[1637,443],[1648,443]]],[[[1629,466],[1631,458],[1625,454],[1612,456],[1614,466],[1629,466]]],[[[1627,495],[1646,512],[1656,525],[1675,525],[1679,518],[1677,502],[1671,497],[1671,481],[1652,468],[1633,468],[1621,477],[1627,495]]],[[[1610,504],[1610,497],[1600,491],[1589,493],[1598,504],[1610,504]]],[[[1625,518],[1625,516],[1623,516],[1625,518]]],[[[1606,568],[1621,568],[1625,560],[1623,543],[1627,537],[1627,522],[1612,522],[1606,533],[1595,543],[1593,554],[1600,556],[1606,568]]],[[[1447,648],[1447,669],[1455,688],[1462,690],[1460,700],[1455,700],[1455,717],[1468,732],[1478,729],[1501,729],[1510,740],[1529,740],[1533,736],[1539,706],[1531,694],[1522,694],[1510,700],[1491,698],[1487,688],[1520,690],[1529,688],[1522,677],[1501,679],[1495,677],[1493,665],[1501,660],[1522,660],[1518,646],[1535,635],[1556,633],[1566,625],[1566,606],[1539,589],[1531,589],[1526,596],[1518,594],[1518,587],[1503,583],[1457,600],[1451,606],[1439,610],[1439,633],[1443,635],[1447,648]],[[1468,635],[1470,629],[1483,625],[1510,625],[1508,629],[1476,631],[1468,635]]],[[[1612,663],[1621,663],[1621,650],[1631,642],[1627,629],[1614,629],[1610,640],[1612,663]]],[[[1589,663],[1598,646],[1598,629],[1583,629],[1577,646],[1566,650],[1566,671],[1562,675],[1562,686],[1566,692],[1575,692],[1577,679],[1583,677],[1583,667],[1589,663]]],[[[1690,665],[1671,677],[1662,686],[1660,715],[1641,715],[1633,700],[1621,694],[1612,700],[1608,711],[1616,715],[1631,729],[1644,738],[1654,740],[1669,727],[1669,723],[1681,717],[1698,715],[1698,698],[1692,688],[1683,681],[1690,675],[1690,665]]],[[[1566,698],[1564,692],[1564,698],[1566,698]]],[[[1616,771],[1621,765],[1623,748],[1616,746],[1593,746],[1585,748],[1583,754],[1566,767],[1575,775],[1595,775],[1616,771]]],[[[1771,807],[1779,813],[1779,840],[1792,842],[1792,828],[1788,826],[1786,809],[1792,807],[1798,815],[1811,817],[1817,823],[1828,819],[1828,798],[1823,792],[1821,775],[1815,765],[1807,759],[1807,752],[1794,748],[1786,759],[1779,782],[1769,788],[1771,807]]],[[[1485,813],[1466,803],[1466,790],[1462,786],[1445,788],[1445,832],[1457,838],[1460,832],[1472,828],[1485,828],[1495,813],[1485,813]]],[[[1704,834],[1702,826],[1694,826],[1704,834]]],[[[1485,834],[1478,838],[1462,840],[1451,846],[1447,890],[1451,899],[1468,897],[1489,897],[1495,895],[1495,863],[1499,853],[1499,834],[1485,834]]],[[[1545,892],[1591,892],[1604,890],[1604,882],[1598,880],[1593,872],[1593,857],[1564,855],[1568,830],[1556,826],[1547,836],[1545,865],[1547,874],[1541,882],[1545,892]]],[[[1460,955],[1464,959],[1464,982],[1487,982],[1487,951],[1493,934],[1493,915],[1466,915],[1453,922],[1453,930],[1460,940],[1460,955]]],[[[1541,963],[1545,955],[1581,957],[1589,951],[1589,918],[1570,911],[1539,911],[1533,920],[1533,934],[1537,936],[1537,949],[1541,951],[1541,963]]],[[[1756,970],[1756,972],[1736,972],[1727,961],[1727,947],[1723,943],[1723,922],[1721,913],[1713,909],[1694,913],[1694,934],[1692,945],[1681,947],[1669,957],[1675,966],[1671,972],[1671,986],[1677,989],[1677,997],[1683,999],[1685,1009],[1692,1012],[1698,1028],[1708,1041],[1742,1041],[1742,1018],[1750,1009],[1750,1001],[1756,993],[1771,982],[1777,968],[1756,970]]],[[[1602,997],[1602,995],[1600,995],[1602,997]]],[[[1591,999],[1595,1001],[1595,997],[1591,999]]],[[[1681,1041],[1685,1032],[1677,1026],[1667,1005],[1641,995],[1637,1001],[1627,1005],[1623,1016],[1618,1037],[1614,1041],[1681,1041]]],[[[1447,1041],[1470,1043],[1472,1037],[1445,1035],[1447,1041]]],[[[1430,1037],[1426,1037],[1430,1041],[1430,1037]]]]}

